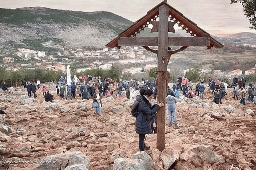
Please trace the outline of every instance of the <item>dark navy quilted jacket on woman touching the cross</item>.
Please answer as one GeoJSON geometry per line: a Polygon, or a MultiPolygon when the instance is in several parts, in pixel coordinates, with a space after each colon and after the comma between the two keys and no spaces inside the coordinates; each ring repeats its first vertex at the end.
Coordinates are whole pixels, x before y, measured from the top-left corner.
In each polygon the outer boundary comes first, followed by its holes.
{"type": "Polygon", "coordinates": [[[138,100],[140,103],[138,106],[139,115],[135,122],[135,130],[139,134],[150,134],[150,120],[160,107],[156,105],[154,109],[151,110],[151,104],[144,96],[138,96],[136,100],[138,100]]]}

